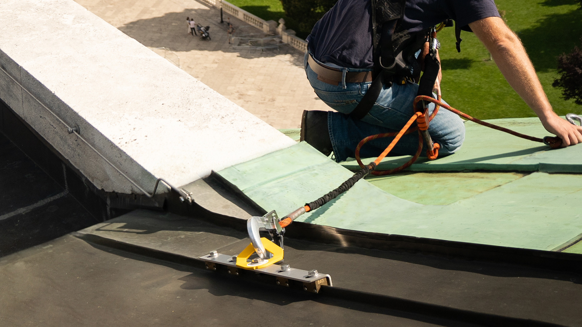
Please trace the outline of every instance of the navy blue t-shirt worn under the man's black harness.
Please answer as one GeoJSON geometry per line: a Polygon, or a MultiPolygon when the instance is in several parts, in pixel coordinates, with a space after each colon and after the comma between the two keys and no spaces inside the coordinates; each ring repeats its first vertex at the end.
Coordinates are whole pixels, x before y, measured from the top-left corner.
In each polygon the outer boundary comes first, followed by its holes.
{"type": "MultiPolygon", "coordinates": [[[[315,59],[342,67],[372,69],[370,0],[339,0],[307,37],[315,59]]],[[[494,0],[407,0],[402,29],[411,32],[453,19],[458,26],[497,16],[494,0]]]]}

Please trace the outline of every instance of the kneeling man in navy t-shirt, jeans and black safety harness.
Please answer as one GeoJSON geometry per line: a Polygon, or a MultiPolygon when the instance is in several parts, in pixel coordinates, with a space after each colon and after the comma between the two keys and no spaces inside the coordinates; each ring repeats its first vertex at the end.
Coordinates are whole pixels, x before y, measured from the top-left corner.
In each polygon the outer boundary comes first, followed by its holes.
{"type": "MultiPolygon", "coordinates": [[[[363,138],[400,130],[415,111],[416,82],[431,46],[431,27],[448,19],[455,20],[457,50],[460,30],[473,31],[545,129],[562,139],[562,147],[582,142],[582,127],[553,112],[521,41],[499,16],[494,0],[339,0],[315,23],[305,57],[311,86],[336,112],[304,111],[300,140],[325,155],[333,151],[340,162],[354,157],[363,138]],[[378,76],[384,79],[381,87],[374,86],[378,76]],[[372,89],[376,93],[366,96],[372,89]],[[367,108],[364,102],[370,102],[367,108]]],[[[438,41],[432,46],[438,49],[438,41]]],[[[436,98],[441,94],[440,67],[435,76],[428,93],[436,98]]],[[[428,105],[428,113],[434,108],[428,105]]],[[[441,156],[457,151],[464,140],[462,120],[445,109],[438,111],[428,131],[441,156]]],[[[360,156],[377,157],[391,141],[370,141],[360,156]]],[[[417,147],[418,136],[410,133],[391,155],[413,155],[417,147]]]]}

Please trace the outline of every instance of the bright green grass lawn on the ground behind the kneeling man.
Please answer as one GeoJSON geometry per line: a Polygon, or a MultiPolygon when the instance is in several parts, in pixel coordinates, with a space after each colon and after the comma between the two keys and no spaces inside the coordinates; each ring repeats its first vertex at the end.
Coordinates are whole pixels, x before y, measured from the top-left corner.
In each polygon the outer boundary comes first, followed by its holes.
{"type": "MultiPolygon", "coordinates": [[[[230,2],[265,20],[277,21],[285,16],[279,0],[230,2]]],[[[560,115],[582,113],[582,106],[572,100],[563,100],[561,91],[552,87],[558,76],[556,56],[580,44],[582,10],[578,9],[579,0],[496,0],[496,3],[506,11],[509,27],[523,41],[554,110],[560,115]]],[[[535,116],[505,81],[495,63],[489,60],[489,53],[475,35],[463,32],[461,37],[462,51],[458,54],[454,29],[449,27],[439,33],[443,99],[482,119],[535,116]]]]}

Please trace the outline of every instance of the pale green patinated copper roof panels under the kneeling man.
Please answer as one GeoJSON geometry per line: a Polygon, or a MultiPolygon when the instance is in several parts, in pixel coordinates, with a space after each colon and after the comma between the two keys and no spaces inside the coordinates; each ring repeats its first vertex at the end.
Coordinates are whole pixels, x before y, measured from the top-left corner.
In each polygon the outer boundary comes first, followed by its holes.
{"type": "MultiPolygon", "coordinates": [[[[540,126],[532,119],[505,119],[501,123],[544,136],[543,131],[535,132],[540,126]]],[[[474,169],[478,163],[505,172],[405,172],[370,177],[299,221],[366,232],[558,250],[582,233],[582,219],[574,207],[582,200],[582,175],[536,170],[543,166],[554,171],[564,166],[569,171],[580,169],[582,146],[546,150],[544,145],[467,123],[467,140],[457,154],[416,166],[431,170],[455,165],[462,171],[474,169]],[[534,172],[506,172],[511,166],[534,172]]],[[[219,174],[262,208],[275,209],[282,216],[335,189],[353,173],[310,145],[299,143],[219,174]]]]}

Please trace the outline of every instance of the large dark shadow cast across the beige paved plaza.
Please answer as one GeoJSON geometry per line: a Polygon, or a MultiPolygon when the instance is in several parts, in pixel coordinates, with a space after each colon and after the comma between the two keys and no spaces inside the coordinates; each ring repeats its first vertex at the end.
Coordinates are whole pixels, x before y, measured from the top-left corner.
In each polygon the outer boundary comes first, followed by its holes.
{"type": "MultiPolygon", "coordinates": [[[[265,10],[268,8],[264,6],[265,10]]],[[[234,52],[242,58],[253,59],[281,54],[290,55],[290,63],[296,66],[303,66],[303,54],[290,45],[283,44],[279,49],[267,49],[265,51],[235,50],[228,44],[227,19],[233,24],[235,29],[249,24],[242,22],[235,17],[223,13],[223,23],[221,23],[220,12],[215,9],[184,9],[182,12],[166,13],[159,17],[139,19],[118,27],[120,31],[140,42],[146,47],[165,47],[172,51],[187,52],[199,51],[222,51],[234,52]],[[186,25],[186,17],[194,19],[197,24],[210,26],[211,41],[201,40],[199,36],[189,34],[186,25]]],[[[261,30],[255,29],[257,33],[261,30]]],[[[248,30],[247,30],[248,31],[248,30]]],[[[237,33],[235,33],[236,36],[237,33]]]]}

